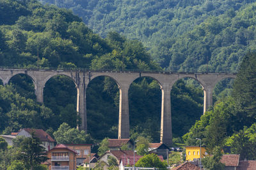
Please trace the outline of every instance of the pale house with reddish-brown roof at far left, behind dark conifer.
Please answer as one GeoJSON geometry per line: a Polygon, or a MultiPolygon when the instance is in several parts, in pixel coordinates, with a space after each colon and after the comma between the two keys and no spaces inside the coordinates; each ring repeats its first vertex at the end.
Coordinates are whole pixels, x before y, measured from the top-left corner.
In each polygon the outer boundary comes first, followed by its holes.
{"type": "Polygon", "coordinates": [[[40,139],[40,141],[42,142],[42,146],[44,146],[46,151],[51,150],[51,148],[55,146],[54,139],[52,139],[52,137],[42,129],[26,128],[26,129],[20,129],[19,132],[12,132],[11,135],[0,135],[0,136],[2,136],[6,140],[8,145],[12,146],[13,145],[12,140],[14,138],[16,138],[17,136],[25,136],[26,138],[31,138],[32,132],[34,132],[35,136],[40,139]]]}

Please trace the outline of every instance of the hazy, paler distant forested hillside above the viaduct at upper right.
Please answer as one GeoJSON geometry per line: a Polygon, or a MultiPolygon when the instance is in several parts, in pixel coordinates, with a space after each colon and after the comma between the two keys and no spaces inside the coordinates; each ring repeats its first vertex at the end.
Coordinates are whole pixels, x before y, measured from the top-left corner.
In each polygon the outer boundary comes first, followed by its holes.
{"type": "Polygon", "coordinates": [[[254,50],[254,0],[41,1],[71,9],[102,37],[117,31],[140,39],[172,71],[236,72],[254,50]]]}

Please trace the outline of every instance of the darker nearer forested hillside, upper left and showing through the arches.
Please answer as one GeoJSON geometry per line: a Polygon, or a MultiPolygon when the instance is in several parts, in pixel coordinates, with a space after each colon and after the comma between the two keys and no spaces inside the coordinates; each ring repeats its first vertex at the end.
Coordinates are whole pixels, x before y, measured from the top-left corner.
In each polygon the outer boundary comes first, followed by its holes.
{"type": "MultiPolygon", "coordinates": [[[[101,38],[70,10],[35,0],[1,0],[0,8],[0,66],[161,70],[140,41],[116,32],[101,38]]],[[[44,104],[36,103],[34,88],[31,78],[24,74],[14,76],[6,86],[0,85],[1,133],[30,127],[52,134],[63,122],[70,127],[79,124],[72,80],[55,76],[47,81],[44,104]]],[[[115,81],[95,78],[88,84],[86,100],[91,136],[117,138],[119,90],[115,81]]],[[[203,92],[199,85],[193,87],[180,80],[173,87],[172,104],[173,136],[182,136],[202,115],[203,92]],[[188,111],[190,116],[182,118],[188,111]]],[[[161,90],[156,81],[140,78],[132,83],[129,110],[131,134],[159,141],[161,90]]]]}

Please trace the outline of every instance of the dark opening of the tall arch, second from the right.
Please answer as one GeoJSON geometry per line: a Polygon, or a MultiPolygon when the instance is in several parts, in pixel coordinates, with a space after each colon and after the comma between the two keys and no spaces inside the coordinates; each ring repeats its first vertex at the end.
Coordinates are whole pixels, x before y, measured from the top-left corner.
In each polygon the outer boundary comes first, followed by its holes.
{"type": "Polygon", "coordinates": [[[193,77],[177,80],[171,90],[173,138],[180,138],[204,114],[204,90],[193,77]]]}

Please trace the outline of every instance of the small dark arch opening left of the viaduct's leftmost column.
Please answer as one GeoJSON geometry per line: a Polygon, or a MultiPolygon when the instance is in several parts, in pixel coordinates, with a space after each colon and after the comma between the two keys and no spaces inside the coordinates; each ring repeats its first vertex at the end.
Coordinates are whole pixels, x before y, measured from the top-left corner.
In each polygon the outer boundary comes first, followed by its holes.
{"type": "Polygon", "coordinates": [[[36,100],[35,81],[28,74],[15,74],[10,78],[8,84],[13,85],[21,96],[36,100]]]}

